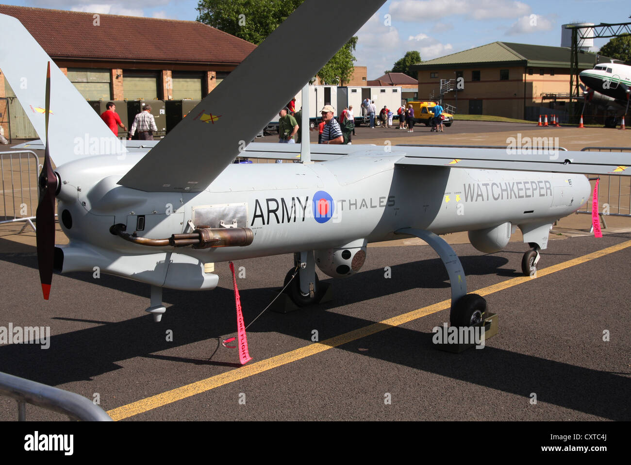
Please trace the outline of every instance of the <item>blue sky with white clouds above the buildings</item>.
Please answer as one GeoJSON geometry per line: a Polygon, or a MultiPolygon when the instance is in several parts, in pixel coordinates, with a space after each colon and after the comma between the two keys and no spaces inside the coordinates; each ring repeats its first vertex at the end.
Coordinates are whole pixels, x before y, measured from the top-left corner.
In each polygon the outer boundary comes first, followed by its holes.
{"type": "MultiPolygon", "coordinates": [[[[197,0],[21,0],[8,4],[195,20],[197,0]]],[[[357,66],[379,77],[408,50],[423,60],[496,40],[561,45],[561,25],[631,21],[628,0],[388,0],[358,32],[357,66]]],[[[601,47],[608,39],[596,39],[601,47]]]]}

